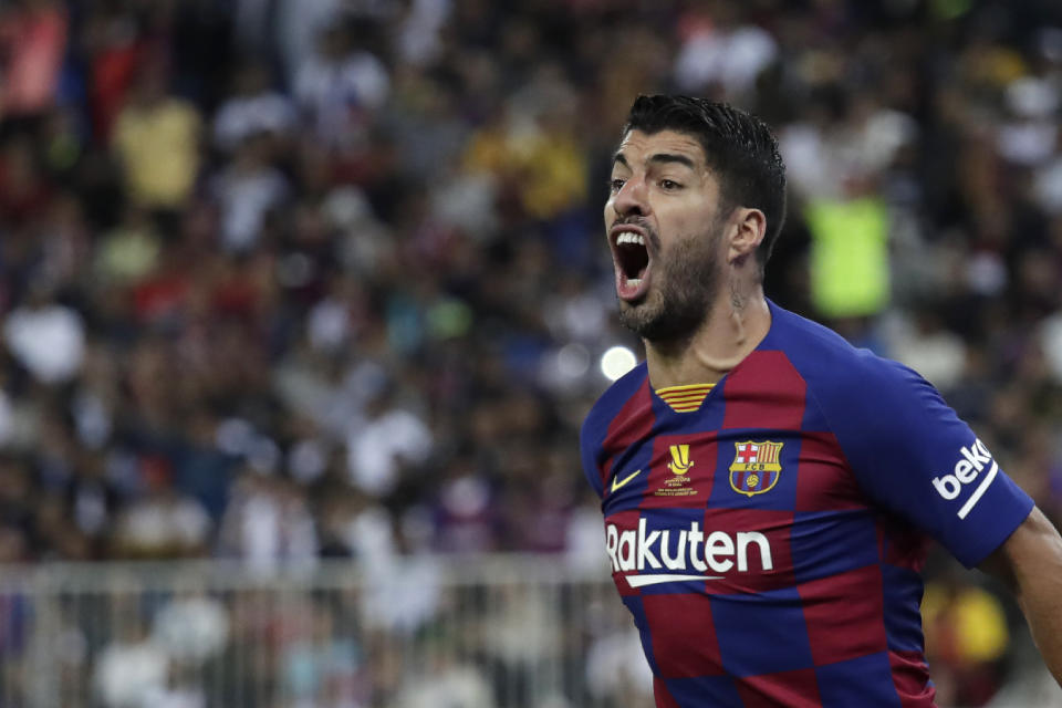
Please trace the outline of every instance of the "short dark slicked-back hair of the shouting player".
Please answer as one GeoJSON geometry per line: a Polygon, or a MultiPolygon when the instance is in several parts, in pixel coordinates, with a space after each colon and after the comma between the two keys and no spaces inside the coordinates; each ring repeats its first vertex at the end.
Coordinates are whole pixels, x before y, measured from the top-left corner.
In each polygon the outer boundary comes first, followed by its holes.
{"type": "Polygon", "coordinates": [[[624,136],[631,131],[649,135],[677,131],[698,139],[708,169],[719,179],[723,207],[750,207],[767,217],[767,232],[756,252],[762,269],[785,221],[785,164],[771,128],[726,103],[642,95],[631,106],[624,136]]]}

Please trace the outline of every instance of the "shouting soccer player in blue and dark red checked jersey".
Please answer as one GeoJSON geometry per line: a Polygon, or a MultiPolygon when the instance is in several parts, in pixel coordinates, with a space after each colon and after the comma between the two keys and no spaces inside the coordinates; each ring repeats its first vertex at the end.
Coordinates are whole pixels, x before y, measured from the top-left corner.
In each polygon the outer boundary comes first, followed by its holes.
{"type": "Polygon", "coordinates": [[[1062,539],[915,372],[763,295],[785,211],[770,129],[641,96],[605,230],[646,361],[582,429],[659,708],[934,705],[927,539],[1016,592],[1062,679],[1062,539]]]}

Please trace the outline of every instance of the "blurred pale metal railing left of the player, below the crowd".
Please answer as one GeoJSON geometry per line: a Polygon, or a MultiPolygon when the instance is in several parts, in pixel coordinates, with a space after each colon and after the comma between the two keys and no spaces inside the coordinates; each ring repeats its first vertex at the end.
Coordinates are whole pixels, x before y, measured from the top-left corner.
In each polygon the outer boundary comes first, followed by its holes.
{"type": "Polygon", "coordinates": [[[0,568],[0,708],[653,705],[601,568],[563,559],[0,568]]]}

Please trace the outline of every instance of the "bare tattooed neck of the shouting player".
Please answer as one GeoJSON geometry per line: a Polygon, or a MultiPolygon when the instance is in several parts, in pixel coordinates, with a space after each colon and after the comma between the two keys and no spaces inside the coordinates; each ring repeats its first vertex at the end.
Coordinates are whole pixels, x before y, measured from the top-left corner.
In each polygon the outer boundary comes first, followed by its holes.
{"type": "Polygon", "coordinates": [[[681,341],[646,342],[646,364],[655,388],[714,384],[754,350],[771,329],[763,288],[731,288],[715,299],[704,324],[681,341]]]}

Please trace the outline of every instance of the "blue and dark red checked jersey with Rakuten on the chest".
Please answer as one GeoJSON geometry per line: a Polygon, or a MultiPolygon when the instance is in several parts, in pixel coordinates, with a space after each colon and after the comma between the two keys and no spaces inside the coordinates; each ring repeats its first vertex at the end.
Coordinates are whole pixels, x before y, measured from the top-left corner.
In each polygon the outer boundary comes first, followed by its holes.
{"type": "Polygon", "coordinates": [[[918,374],[770,311],[716,386],[643,363],[583,424],[656,705],[933,706],[928,540],[976,565],[1032,500],[918,374]]]}

